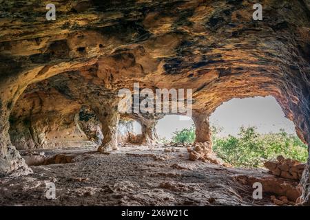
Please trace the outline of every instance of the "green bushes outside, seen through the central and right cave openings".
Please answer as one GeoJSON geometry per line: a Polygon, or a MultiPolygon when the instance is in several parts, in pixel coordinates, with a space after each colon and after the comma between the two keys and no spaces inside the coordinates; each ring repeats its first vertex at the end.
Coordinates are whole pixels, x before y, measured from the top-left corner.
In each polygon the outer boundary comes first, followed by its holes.
{"type": "MultiPolygon", "coordinates": [[[[278,133],[260,134],[255,126],[240,127],[238,136],[220,137],[220,128],[212,126],[212,143],[216,155],[225,162],[239,167],[262,167],[266,160],[276,159],[278,155],[306,162],[307,145],[296,135],[280,130],[278,133]]],[[[195,129],[174,132],[173,142],[193,143],[195,129]]]]}

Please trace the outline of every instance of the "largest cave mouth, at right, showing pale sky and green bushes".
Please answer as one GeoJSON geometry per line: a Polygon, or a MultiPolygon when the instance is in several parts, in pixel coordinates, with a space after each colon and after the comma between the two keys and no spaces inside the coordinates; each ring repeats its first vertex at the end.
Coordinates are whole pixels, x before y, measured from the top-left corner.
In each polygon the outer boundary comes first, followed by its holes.
{"type": "Polygon", "coordinates": [[[263,167],[279,155],[307,162],[307,145],[272,96],[231,99],[209,121],[214,153],[232,166],[263,167]]]}

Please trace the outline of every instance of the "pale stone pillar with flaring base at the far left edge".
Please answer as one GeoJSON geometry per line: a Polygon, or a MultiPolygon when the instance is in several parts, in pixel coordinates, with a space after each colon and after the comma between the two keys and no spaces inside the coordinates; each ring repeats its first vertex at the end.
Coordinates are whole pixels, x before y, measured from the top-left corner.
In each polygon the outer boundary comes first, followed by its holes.
{"type": "Polygon", "coordinates": [[[28,175],[32,173],[32,170],[25,164],[25,160],[10,141],[8,132],[10,128],[10,105],[12,102],[0,99],[0,176],[28,175]]]}

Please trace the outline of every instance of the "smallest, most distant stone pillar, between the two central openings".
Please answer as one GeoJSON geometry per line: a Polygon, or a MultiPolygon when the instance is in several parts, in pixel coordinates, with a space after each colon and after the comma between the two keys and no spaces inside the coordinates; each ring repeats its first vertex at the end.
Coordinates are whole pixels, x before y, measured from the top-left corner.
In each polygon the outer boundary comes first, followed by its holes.
{"type": "Polygon", "coordinates": [[[141,122],[141,132],[142,132],[142,141],[141,144],[145,144],[147,146],[152,146],[157,144],[158,135],[156,132],[156,120],[147,120],[145,122],[141,122]]]}

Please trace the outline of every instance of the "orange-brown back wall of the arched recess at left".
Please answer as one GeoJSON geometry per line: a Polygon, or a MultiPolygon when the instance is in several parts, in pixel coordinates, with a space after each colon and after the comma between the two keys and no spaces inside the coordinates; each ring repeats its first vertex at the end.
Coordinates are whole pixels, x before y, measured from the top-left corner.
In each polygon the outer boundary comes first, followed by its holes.
{"type": "MultiPolygon", "coordinates": [[[[98,146],[101,123],[89,108],[57,89],[48,93],[29,87],[10,115],[10,139],[19,150],[98,146]]],[[[62,87],[65,89],[65,87],[62,87]]]]}

